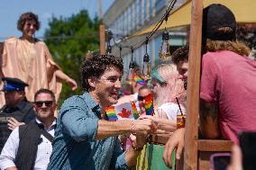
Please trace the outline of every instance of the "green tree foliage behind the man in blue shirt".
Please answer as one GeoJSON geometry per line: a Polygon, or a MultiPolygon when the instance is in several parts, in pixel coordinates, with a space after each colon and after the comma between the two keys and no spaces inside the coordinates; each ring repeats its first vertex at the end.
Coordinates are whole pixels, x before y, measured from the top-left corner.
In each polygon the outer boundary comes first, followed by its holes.
{"type": "Polygon", "coordinates": [[[59,67],[78,83],[78,90],[75,92],[69,85],[63,84],[59,103],[72,94],[81,93],[80,65],[88,50],[99,48],[99,23],[97,18],[90,19],[86,10],[69,18],[52,16],[50,19],[50,28],[44,34],[45,43],[59,67]]]}

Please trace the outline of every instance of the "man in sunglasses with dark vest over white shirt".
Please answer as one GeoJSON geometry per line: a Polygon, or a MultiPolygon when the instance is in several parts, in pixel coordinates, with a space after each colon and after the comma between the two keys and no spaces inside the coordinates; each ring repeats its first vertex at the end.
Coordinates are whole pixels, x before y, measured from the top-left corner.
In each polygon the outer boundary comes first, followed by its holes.
{"type": "Polygon", "coordinates": [[[34,95],[36,118],[14,129],[0,156],[0,169],[46,169],[56,128],[54,94],[40,89],[34,95]]]}

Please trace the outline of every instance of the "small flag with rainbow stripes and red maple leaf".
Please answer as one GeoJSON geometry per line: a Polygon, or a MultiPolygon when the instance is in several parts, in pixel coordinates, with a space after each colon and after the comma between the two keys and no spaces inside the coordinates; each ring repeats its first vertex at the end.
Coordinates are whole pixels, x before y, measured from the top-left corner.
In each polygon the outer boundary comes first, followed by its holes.
{"type": "Polygon", "coordinates": [[[112,105],[105,107],[105,113],[108,121],[138,119],[139,112],[135,103],[123,103],[120,105],[112,105]]]}

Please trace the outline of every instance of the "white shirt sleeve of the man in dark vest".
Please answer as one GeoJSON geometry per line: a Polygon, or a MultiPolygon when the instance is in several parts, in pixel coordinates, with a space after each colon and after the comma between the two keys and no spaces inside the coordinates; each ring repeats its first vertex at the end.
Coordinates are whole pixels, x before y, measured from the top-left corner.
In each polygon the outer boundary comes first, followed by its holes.
{"type": "Polygon", "coordinates": [[[5,143],[0,155],[0,169],[15,167],[14,160],[19,148],[19,128],[15,128],[5,143]]]}

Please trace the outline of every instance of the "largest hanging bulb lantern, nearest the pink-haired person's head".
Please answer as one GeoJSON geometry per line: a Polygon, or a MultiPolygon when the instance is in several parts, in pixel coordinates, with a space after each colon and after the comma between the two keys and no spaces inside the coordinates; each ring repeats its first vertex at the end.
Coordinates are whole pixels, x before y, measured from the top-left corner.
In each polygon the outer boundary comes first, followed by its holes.
{"type": "Polygon", "coordinates": [[[161,42],[161,45],[160,45],[159,58],[160,59],[168,59],[168,58],[170,58],[169,32],[167,30],[165,30],[162,33],[162,42],[161,42]]]}

